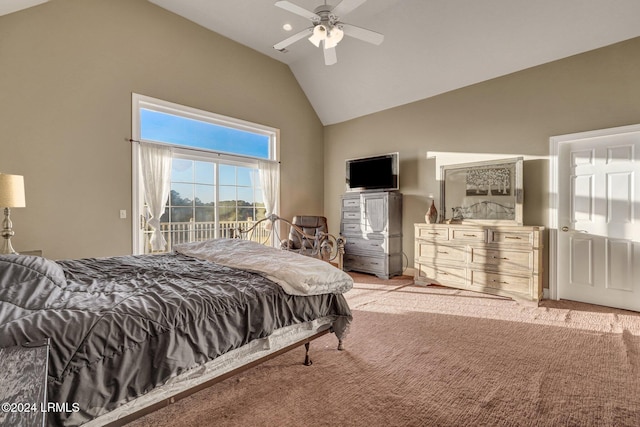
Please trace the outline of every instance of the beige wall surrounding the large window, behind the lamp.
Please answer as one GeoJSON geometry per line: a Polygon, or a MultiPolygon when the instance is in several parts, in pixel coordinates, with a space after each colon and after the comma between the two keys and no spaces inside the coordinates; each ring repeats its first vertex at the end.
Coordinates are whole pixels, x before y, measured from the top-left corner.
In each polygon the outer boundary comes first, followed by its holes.
{"type": "Polygon", "coordinates": [[[131,252],[131,93],[279,128],[282,214],[323,210],[323,128],[289,68],[146,0],[0,17],[0,172],[25,176],[20,250],[131,252]],[[304,191],[299,191],[304,188],[304,191]]]}

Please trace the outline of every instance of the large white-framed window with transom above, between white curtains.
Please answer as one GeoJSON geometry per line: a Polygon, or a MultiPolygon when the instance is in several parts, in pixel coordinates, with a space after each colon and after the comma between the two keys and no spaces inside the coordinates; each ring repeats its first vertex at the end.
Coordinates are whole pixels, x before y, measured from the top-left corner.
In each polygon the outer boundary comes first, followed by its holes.
{"type": "MultiPolygon", "coordinates": [[[[258,160],[276,160],[275,129],[134,94],[133,135],[173,147],[171,190],[160,219],[167,251],[178,243],[232,237],[232,229],[265,217],[258,160]]],[[[146,253],[151,229],[137,150],[134,143],[134,217],[140,223],[134,224],[133,249],[146,253]]]]}

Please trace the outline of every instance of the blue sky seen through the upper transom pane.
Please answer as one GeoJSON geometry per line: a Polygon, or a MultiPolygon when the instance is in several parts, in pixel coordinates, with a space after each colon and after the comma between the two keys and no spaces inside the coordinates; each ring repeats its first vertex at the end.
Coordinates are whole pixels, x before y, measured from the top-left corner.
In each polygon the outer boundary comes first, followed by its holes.
{"type": "Polygon", "coordinates": [[[140,136],[147,141],[269,158],[268,135],[144,108],[140,109],[140,136]]]}

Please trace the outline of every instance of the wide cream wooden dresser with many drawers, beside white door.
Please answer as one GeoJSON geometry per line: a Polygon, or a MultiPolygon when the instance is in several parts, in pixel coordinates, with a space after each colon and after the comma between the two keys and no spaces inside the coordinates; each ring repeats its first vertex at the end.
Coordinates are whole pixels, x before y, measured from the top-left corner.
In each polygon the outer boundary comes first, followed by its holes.
{"type": "Polygon", "coordinates": [[[544,227],[415,224],[415,282],[538,302],[544,227]]]}

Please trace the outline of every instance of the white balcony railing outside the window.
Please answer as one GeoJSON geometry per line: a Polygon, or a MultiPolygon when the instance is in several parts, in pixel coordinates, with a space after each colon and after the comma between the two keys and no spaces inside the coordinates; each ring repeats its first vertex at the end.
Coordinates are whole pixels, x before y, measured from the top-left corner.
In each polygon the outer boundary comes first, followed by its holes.
{"type": "MultiPolygon", "coordinates": [[[[248,229],[255,224],[255,221],[220,221],[218,222],[218,235],[216,236],[216,223],[208,222],[162,222],[160,230],[167,241],[167,250],[170,252],[173,245],[180,243],[199,242],[215,238],[233,238],[234,231],[238,228],[248,229]]],[[[151,231],[145,231],[145,248],[149,250],[149,238],[151,231]]],[[[269,230],[260,228],[253,233],[251,240],[260,243],[268,243],[269,230]]]]}

